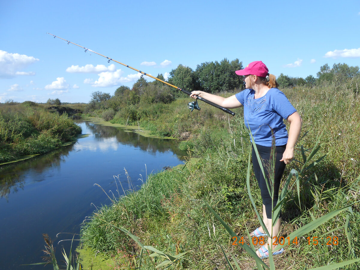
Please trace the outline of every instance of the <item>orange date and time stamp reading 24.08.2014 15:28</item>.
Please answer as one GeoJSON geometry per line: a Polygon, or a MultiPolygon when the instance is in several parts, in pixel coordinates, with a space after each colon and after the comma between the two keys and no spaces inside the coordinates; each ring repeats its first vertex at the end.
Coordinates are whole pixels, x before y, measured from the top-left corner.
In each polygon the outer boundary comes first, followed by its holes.
{"type": "MultiPolygon", "coordinates": [[[[314,236],[314,237],[307,237],[306,239],[308,240],[307,241],[307,243],[309,244],[309,245],[311,245],[311,244],[313,244],[314,246],[316,246],[317,244],[319,244],[319,239],[318,239],[319,237],[317,237],[317,236],[314,236]],[[312,241],[311,241],[312,240],[312,241]]],[[[321,237],[321,240],[323,240],[324,238],[323,237],[321,237]]],[[[233,237],[233,240],[234,240],[234,242],[231,244],[231,245],[234,245],[234,246],[236,246],[238,243],[239,244],[245,244],[245,242],[244,242],[244,237],[242,236],[242,237],[240,237],[239,238],[239,242],[238,242],[238,237],[236,237],[236,236],[234,236],[233,237]],[[235,240],[234,240],[235,239],[235,240]]],[[[260,237],[256,237],[256,236],[254,236],[252,239],[251,239],[251,241],[252,241],[252,244],[254,245],[254,246],[256,246],[257,244],[260,244],[261,246],[262,245],[265,245],[265,237],[264,236],[260,236],[260,237]]],[[[281,246],[283,246],[283,245],[285,245],[285,244],[288,244],[288,245],[290,245],[291,243],[292,244],[298,244],[298,240],[297,240],[297,237],[295,237],[292,241],[290,240],[290,237],[283,237],[283,236],[280,236],[280,237],[276,237],[276,236],[274,236],[273,237],[273,240],[274,240],[274,242],[273,242],[273,245],[274,246],[276,246],[276,245],[278,245],[278,244],[280,244],[281,246]]],[[[339,244],[339,238],[337,237],[337,236],[334,236],[334,237],[330,237],[330,236],[328,236],[327,238],[326,238],[326,245],[334,245],[334,246],[336,246],[337,244],[339,244]]],[[[323,243],[320,243],[320,244],[323,244],[323,243]]],[[[249,244],[247,244],[247,245],[249,245],[249,244]]]]}

